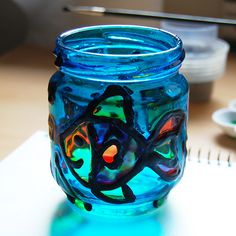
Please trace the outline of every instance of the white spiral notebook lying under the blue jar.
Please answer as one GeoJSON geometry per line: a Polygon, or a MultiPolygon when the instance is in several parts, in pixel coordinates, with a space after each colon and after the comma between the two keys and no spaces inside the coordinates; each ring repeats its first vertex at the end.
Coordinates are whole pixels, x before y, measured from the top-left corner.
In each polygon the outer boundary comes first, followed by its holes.
{"type": "Polygon", "coordinates": [[[90,222],[86,231],[77,227],[74,213],[67,209],[66,215],[73,215],[69,223],[58,211],[65,195],[50,174],[49,139],[39,131],[0,163],[0,235],[82,236],[96,231],[103,236],[235,236],[236,163],[189,157],[182,180],[152,220],[134,220],[129,226],[123,222],[112,229],[107,222],[90,222]]]}

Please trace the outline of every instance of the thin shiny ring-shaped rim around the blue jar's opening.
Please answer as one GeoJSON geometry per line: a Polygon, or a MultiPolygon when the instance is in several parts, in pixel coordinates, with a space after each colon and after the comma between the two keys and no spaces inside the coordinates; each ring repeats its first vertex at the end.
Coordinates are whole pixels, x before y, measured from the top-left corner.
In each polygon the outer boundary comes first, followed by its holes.
{"type": "Polygon", "coordinates": [[[69,31],[66,31],[62,33],[61,35],[58,36],[57,38],[57,45],[60,46],[62,49],[69,50],[70,52],[74,52],[80,55],[84,56],[95,56],[95,57],[106,57],[106,58],[140,58],[140,57],[150,57],[150,56],[158,56],[158,55],[165,55],[165,54],[172,54],[175,51],[178,51],[183,48],[183,44],[181,39],[177,36],[174,35],[170,32],[167,32],[162,29],[154,28],[154,27],[149,27],[149,26],[140,26],[140,25],[96,25],[96,26],[87,26],[87,27],[81,27],[81,28],[76,28],[72,29],[69,31]],[[147,30],[147,31],[153,31],[153,32],[159,32],[162,34],[165,34],[166,36],[170,36],[170,38],[174,39],[175,41],[175,46],[170,47],[166,50],[162,51],[156,51],[156,52],[149,52],[149,53],[141,53],[141,54],[105,54],[105,53],[94,53],[94,52],[87,52],[87,51],[81,51],[80,49],[73,48],[71,46],[66,45],[65,40],[72,35],[82,33],[85,31],[91,31],[91,30],[98,30],[98,29],[109,29],[109,28],[114,28],[114,29],[134,29],[134,30],[147,30]]]}

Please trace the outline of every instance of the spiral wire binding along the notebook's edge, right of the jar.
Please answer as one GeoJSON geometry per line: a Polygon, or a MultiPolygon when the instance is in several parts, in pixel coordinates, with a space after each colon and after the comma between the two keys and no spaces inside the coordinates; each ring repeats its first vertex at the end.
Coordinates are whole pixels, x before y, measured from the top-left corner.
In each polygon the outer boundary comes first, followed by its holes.
{"type": "Polygon", "coordinates": [[[219,166],[226,163],[228,167],[231,167],[232,163],[236,162],[236,153],[221,150],[213,151],[212,149],[206,151],[202,148],[192,148],[190,146],[187,148],[187,160],[197,160],[199,163],[204,161],[209,165],[214,162],[219,166]]]}

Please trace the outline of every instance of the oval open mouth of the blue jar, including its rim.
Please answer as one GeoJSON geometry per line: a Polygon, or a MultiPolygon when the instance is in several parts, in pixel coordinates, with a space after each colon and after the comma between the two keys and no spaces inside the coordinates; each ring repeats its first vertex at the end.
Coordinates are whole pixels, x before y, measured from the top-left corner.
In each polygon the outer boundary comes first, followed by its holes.
{"type": "Polygon", "coordinates": [[[57,46],[84,56],[141,58],[164,56],[182,49],[179,37],[157,28],[138,25],[97,25],[61,34],[57,46]]]}

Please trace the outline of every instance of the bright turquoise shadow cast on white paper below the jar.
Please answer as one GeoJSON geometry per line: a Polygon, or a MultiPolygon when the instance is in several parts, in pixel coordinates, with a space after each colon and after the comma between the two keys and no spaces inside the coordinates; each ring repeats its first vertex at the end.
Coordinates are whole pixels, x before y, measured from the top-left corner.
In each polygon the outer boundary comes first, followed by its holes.
{"type": "MultiPolygon", "coordinates": [[[[164,205],[168,205],[165,203],[164,205]]],[[[166,228],[169,224],[171,211],[168,206],[161,206],[156,214],[152,216],[132,218],[128,220],[111,220],[110,218],[98,219],[85,218],[79,212],[73,210],[69,203],[62,201],[51,221],[49,235],[50,236],[120,236],[120,235],[167,235],[166,228]]]]}

